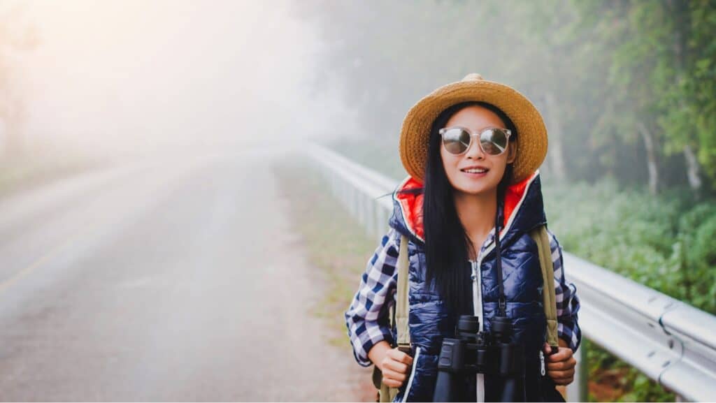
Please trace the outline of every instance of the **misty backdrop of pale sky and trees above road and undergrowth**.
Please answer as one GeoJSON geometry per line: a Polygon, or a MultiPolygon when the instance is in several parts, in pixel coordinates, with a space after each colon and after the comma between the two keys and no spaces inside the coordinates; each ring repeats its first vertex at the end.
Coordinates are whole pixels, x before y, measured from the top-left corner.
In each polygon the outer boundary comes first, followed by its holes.
{"type": "Polygon", "coordinates": [[[709,1],[1,6],[6,156],[340,139],[400,177],[410,106],[480,72],[541,110],[554,178],[713,192],[709,1]]]}

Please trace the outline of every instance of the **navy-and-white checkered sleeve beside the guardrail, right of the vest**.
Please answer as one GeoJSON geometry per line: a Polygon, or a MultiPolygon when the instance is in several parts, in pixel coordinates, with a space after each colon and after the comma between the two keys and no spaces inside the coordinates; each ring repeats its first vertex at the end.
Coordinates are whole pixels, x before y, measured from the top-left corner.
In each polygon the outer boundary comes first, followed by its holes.
{"type": "Polygon", "coordinates": [[[549,245],[552,252],[552,263],[554,267],[555,299],[557,302],[557,335],[567,342],[567,345],[576,351],[581,342],[581,330],[577,323],[577,312],[579,311],[579,297],[576,294],[576,287],[564,278],[562,248],[557,238],[549,230],[549,245]]]}

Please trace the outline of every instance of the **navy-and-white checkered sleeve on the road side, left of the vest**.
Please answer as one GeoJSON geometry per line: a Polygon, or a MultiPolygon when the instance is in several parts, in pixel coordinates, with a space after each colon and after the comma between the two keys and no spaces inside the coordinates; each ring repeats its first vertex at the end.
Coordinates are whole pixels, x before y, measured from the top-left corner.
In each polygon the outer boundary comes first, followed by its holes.
{"type": "Polygon", "coordinates": [[[345,312],[348,336],[358,364],[369,366],[368,351],[379,341],[392,344],[390,307],[395,305],[400,235],[390,228],[368,261],[351,306],[345,312]]]}

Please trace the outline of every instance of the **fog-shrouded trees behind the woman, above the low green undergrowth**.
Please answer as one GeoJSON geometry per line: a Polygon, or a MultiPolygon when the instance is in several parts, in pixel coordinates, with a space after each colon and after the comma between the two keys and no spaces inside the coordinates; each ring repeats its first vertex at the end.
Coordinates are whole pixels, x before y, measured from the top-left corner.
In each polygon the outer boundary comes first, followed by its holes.
{"type": "Polygon", "coordinates": [[[656,175],[663,192],[692,168],[706,188],[690,192],[716,186],[716,0],[314,0],[297,12],[320,29],[364,140],[395,150],[417,99],[476,71],[541,110],[545,171],[622,185],[656,175]]]}

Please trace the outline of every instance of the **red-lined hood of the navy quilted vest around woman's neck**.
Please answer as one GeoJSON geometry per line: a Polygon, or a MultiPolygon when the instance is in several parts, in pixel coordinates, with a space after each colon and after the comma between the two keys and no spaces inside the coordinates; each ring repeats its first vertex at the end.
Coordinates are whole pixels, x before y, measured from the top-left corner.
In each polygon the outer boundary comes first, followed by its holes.
{"type": "MultiPolygon", "coordinates": [[[[408,176],[393,192],[393,215],[389,224],[410,241],[425,244],[422,223],[423,184],[408,176]]],[[[500,241],[511,238],[546,223],[539,170],[520,183],[508,186],[505,191],[505,218],[500,241]]]]}

